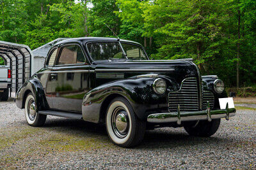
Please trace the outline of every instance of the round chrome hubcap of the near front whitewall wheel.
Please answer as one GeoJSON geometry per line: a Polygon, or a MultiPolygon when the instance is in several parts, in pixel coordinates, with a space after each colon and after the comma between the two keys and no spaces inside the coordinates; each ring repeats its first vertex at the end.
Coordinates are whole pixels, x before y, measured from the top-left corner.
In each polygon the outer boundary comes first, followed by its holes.
{"type": "Polygon", "coordinates": [[[125,138],[129,131],[129,117],[124,108],[118,107],[113,111],[112,127],[118,138],[125,138]]]}

